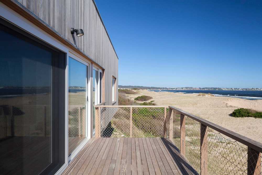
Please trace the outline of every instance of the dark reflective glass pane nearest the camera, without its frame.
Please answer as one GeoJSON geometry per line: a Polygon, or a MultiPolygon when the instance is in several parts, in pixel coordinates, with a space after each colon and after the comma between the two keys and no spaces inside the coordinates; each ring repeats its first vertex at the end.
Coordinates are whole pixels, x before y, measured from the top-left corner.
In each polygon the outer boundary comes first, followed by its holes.
{"type": "Polygon", "coordinates": [[[7,31],[0,25],[0,174],[39,174],[58,163],[51,142],[57,54],[7,31]]]}

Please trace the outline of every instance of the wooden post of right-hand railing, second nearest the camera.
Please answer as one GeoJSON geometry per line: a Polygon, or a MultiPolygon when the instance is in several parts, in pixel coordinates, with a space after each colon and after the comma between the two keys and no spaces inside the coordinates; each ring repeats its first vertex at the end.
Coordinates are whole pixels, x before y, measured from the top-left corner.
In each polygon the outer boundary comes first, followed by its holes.
{"type": "Polygon", "coordinates": [[[204,124],[200,124],[200,164],[201,175],[208,174],[208,131],[204,124]]]}

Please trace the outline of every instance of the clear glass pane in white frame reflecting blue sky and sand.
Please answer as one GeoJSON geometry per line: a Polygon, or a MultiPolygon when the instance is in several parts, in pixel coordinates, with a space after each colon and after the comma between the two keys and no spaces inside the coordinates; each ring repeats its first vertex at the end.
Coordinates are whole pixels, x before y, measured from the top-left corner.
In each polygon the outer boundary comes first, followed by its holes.
{"type": "Polygon", "coordinates": [[[87,137],[88,66],[69,57],[68,155],[87,137]]]}

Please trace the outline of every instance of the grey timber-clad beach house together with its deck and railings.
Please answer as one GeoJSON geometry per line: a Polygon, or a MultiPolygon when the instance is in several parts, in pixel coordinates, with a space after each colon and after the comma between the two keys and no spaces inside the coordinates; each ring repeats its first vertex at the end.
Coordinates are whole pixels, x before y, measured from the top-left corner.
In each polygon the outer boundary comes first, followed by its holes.
{"type": "Polygon", "coordinates": [[[0,174],[261,174],[259,142],[173,106],[118,105],[94,0],[2,0],[0,41],[0,174]]]}

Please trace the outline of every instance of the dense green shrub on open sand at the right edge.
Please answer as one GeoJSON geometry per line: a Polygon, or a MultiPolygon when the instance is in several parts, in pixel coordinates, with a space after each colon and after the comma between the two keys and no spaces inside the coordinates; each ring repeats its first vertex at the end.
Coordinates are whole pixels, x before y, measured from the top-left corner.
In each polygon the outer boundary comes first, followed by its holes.
{"type": "Polygon", "coordinates": [[[233,117],[254,117],[254,118],[262,118],[262,112],[258,112],[256,110],[252,109],[245,109],[245,108],[239,108],[235,109],[232,112],[233,117]]]}

